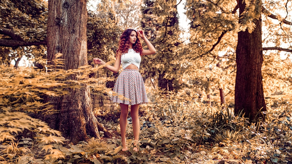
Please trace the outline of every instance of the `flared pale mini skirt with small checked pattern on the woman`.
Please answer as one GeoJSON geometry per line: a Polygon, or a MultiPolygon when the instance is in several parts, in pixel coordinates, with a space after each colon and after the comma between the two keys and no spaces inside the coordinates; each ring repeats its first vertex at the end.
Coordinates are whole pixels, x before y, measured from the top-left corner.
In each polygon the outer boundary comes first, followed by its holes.
{"type": "Polygon", "coordinates": [[[134,69],[124,69],[114,84],[110,100],[127,105],[148,103],[145,84],[140,72],[134,69]]]}

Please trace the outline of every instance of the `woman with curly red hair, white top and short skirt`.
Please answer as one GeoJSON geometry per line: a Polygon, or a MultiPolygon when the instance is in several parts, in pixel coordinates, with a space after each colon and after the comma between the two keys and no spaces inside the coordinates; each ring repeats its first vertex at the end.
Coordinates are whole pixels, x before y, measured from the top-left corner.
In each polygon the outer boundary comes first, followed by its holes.
{"type": "Polygon", "coordinates": [[[156,52],[154,46],[145,37],[142,30],[135,31],[133,29],[126,29],[119,40],[119,47],[116,53],[116,61],[114,66],[107,65],[104,61],[99,58],[94,58],[95,64],[102,64],[108,70],[117,73],[122,64],[123,71],[119,75],[114,85],[114,93],[111,100],[114,103],[119,103],[121,107],[120,114],[120,128],[121,128],[121,139],[122,139],[122,151],[127,151],[126,144],[126,126],[128,117],[128,106],[131,105],[131,117],[132,126],[134,133],[134,151],[139,151],[139,105],[148,103],[147,94],[145,90],[144,81],[141,74],[139,73],[141,56],[150,55],[156,52]],[[143,50],[140,43],[139,35],[147,44],[149,50],[143,50]]]}

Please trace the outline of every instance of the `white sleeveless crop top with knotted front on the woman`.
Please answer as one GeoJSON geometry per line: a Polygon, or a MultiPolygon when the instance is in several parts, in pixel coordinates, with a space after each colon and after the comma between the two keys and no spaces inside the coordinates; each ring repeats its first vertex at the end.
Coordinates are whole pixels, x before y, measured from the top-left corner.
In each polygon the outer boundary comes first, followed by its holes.
{"type": "Polygon", "coordinates": [[[140,69],[141,56],[140,53],[135,52],[133,49],[129,49],[128,53],[122,54],[121,64],[123,69],[127,68],[130,64],[134,64],[140,69]]]}

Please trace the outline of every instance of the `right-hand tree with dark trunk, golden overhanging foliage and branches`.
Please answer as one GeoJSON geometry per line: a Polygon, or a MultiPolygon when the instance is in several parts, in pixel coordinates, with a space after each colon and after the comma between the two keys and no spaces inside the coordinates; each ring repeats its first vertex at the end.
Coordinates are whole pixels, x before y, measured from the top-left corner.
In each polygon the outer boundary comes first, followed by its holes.
{"type": "MultiPolygon", "coordinates": [[[[275,1],[266,3],[279,4],[281,6],[282,1],[275,1]]],[[[220,46],[220,49],[231,49],[234,50],[234,45],[229,45],[224,42],[226,35],[234,34],[238,32],[238,40],[236,47],[236,64],[237,64],[237,75],[235,82],[235,112],[244,110],[247,117],[250,120],[257,119],[263,115],[256,115],[261,111],[266,109],[264,92],[263,92],[263,82],[262,82],[262,63],[263,63],[263,50],[279,50],[279,51],[291,51],[290,48],[281,48],[280,43],[288,43],[287,40],[283,38],[289,38],[282,28],[282,24],[290,24],[291,22],[282,19],[281,16],[276,16],[265,9],[264,6],[268,7],[269,4],[263,5],[260,0],[255,1],[196,1],[187,0],[186,3],[187,16],[192,20],[191,27],[194,29],[200,29],[207,32],[211,31],[211,34],[206,35],[207,41],[202,40],[200,46],[206,45],[208,48],[207,53],[203,53],[202,56],[212,54],[215,57],[218,53],[212,53],[214,50],[216,52],[216,47],[220,46]],[[193,4],[193,5],[191,5],[193,4]],[[237,12],[239,8],[239,12],[237,12]],[[272,19],[277,19],[280,21],[280,26],[278,26],[277,34],[271,35],[269,32],[268,39],[262,40],[262,20],[261,15],[265,16],[265,26],[273,27],[275,30],[274,22],[267,21],[267,17],[272,19]],[[214,19],[215,18],[215,19],[214,19]],[[236,19],[234,19],[236,18],[236,19]],[[212,21],[208,21],[208,20],[212,21]],[[239,21],[238,21],[239,20],[239,21]],[[238,23],[237,23],[238,21],[238,23]],[[211,29],[209,28],[211,27],[211,29]],[[208,29],[208,30],[206,30],[208,29]],[[246,31],[247,30],[247,31],[246,31]],[[283,35],[279,35],[279,30],[284,31],[283,35]],[[222,32],[220,32],[222,31],[222,32]],[[230,32],[228,32],[230,31],[230,32]],[[221,34],[220,34],[221,33],[221,34]],[[217,39],[216,39],[217,35],[217,39]],[[214,38],[208,40],[210,36],[214,38]],[[279,37],[275,39],[276,37],[279,37]],[[278,41],[275,41],[278,40],[278,41]],[[224,44],[222,44],[222,41],[224,44]],[[262,44],[268,45],[274,43],[272,47],[262,47],[262,44]],[[216,55],[215,55],[216,54],[216,55]],[[257,116],[257,117],[256,117],[257,116]]],[[[289,6],[289,3],[284,2],[284,6],[289,6]],[[286,4],[286,5],[285,5],[286,4]]],[[[278,7],[278,6],[277,6],[278,7]]],[[[272,10],[273,8],[269,8],[272,10]]],[[[275,10],[276,11],[276,10],[275,10]]],[[[288,10],[286,10],[288,15],[288,10]]],[[[287,15],[285,18],[287,18],[287,15]]],[[[269,28],[270,29],[270,28],[269,28]]],[[[288,30],[287,30],[288,31],[288,30]]],[[[195,33],[200,35],[199,32],[195,33]]],[[[228,40],[227,40],[228,42],[228,40]]],[[[221,50],[222,52],[222,50],[221,50]]],[[[220,57],[220,56],[219,56],[220,57]]]]}

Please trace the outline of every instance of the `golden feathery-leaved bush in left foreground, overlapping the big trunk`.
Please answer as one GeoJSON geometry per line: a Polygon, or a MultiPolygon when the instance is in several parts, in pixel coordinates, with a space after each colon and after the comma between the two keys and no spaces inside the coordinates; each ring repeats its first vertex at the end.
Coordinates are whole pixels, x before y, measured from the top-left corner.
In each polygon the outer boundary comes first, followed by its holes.
{"type": "MultiPolygon", "coordinates": [[[[81,88],[89,85],[95,91],[108,92],[104,84],[96,85],[97,80],[107,81],[110,79],[88,78],[88,75],[101,67],[92,68],[83,66],[76,70],[63,70],[64,60],[60,59],[61,54],[56,55],[55,65],[45,65],[44,69],[35,68],[9,69],[1,66],[0,69],[0,151],[2,160],[11,160],[11,155],[3,154],[9,147],[12,150],[28,154],[27,148],[19,147],[16,135],[25,130],[34,133],[35,141],[44,143],[41,148],[49,151],[46,159],[58,159],[64,157],[61,151],[55,149],[51,143],[63,143],[61,133],[48,127],[48,125],[34,119],[29,114],[42,112],[45,114],[58,112],[49,103],[43,103],[42,97],[62,96],[68,94],[66,88],[81,88]],[[66,77],[75,76],[77,80],[66,80],[66,77]],[[10,141],[11,144],[7,144],[10,141]],[[10,146],[9,146],[10,145],[10,146]]],[[[24,141],[23,141],[24,142],[24,141]]],[[[26,141],[25,141],[26,142],[26,141]]],[[[19,155],[16,153],[13,158],[19,155]]],[[[1,160],[1,159],[0,159],[1,160]]],[[[49,160],[49,161],[50,161],[49,160]]]]}

